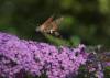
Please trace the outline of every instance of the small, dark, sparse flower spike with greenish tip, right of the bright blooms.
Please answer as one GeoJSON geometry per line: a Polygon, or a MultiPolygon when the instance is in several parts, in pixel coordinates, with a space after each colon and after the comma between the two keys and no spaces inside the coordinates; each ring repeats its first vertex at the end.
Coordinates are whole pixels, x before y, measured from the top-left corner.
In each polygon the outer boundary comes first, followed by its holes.
{"type": "Polygon", "coordinates": [[[86,68],[88,70],[88,78],[105,78],[105,66],[101,59],[102,52],[101,47],[98,46],[88,48],[89,55],[86,62],[86,68]]]}

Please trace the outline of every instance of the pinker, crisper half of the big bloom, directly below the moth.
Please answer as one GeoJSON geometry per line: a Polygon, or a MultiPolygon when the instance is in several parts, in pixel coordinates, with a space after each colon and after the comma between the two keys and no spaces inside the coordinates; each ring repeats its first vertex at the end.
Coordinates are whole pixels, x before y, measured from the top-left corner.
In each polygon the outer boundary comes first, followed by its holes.
{"type": "Polygon", "coordinates": [[[46,43],[25,42],[33,53],[33,58],[43,66],[41,73],[45,73],[48,78],[65,78],[77,74],[81,64],[86,62],[84,46],[77,48],[59,47],[46,43]],[[35,44],[35,45],[34,45],[35,44]],[[33,48],[32,48],[33,47],[33,48]]]}

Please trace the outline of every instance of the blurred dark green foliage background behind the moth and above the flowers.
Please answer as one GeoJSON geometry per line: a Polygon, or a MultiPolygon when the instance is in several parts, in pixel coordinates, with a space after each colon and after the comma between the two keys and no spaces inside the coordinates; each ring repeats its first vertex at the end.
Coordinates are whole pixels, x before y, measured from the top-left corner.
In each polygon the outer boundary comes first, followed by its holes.
{"type": "Polygon", "coordinates": [[[57,44],[109,46],[110,0],[0,0],[0,32],[57,44]],[[59,25],[62,40],[35,32],[52,14],[64,16],[59,25]]]}

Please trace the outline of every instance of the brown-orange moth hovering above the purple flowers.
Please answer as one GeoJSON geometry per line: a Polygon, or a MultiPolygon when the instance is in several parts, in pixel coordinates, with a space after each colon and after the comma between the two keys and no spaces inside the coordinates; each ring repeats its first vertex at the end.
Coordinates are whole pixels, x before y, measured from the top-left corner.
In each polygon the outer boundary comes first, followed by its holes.
{"type": "Polygon", "coordinates": [[[55,36],[59,36],[59,24],[64,20],[64,18],[58,18],[54,20],[54,16],[50,16],[43,24],[36,27],[36,32],[41,32],[44,34],[54,34],[55,36]]]}

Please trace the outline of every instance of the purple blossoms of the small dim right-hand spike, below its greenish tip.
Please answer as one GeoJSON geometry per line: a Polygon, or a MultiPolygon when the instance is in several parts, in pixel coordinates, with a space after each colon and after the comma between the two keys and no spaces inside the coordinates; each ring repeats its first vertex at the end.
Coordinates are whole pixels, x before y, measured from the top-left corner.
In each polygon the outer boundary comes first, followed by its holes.
{"type": "Polygon", "coordinates": [[[96,53],[88,55],[86,67],[90,78],[105,78],[102,63],[96,53]]]}

